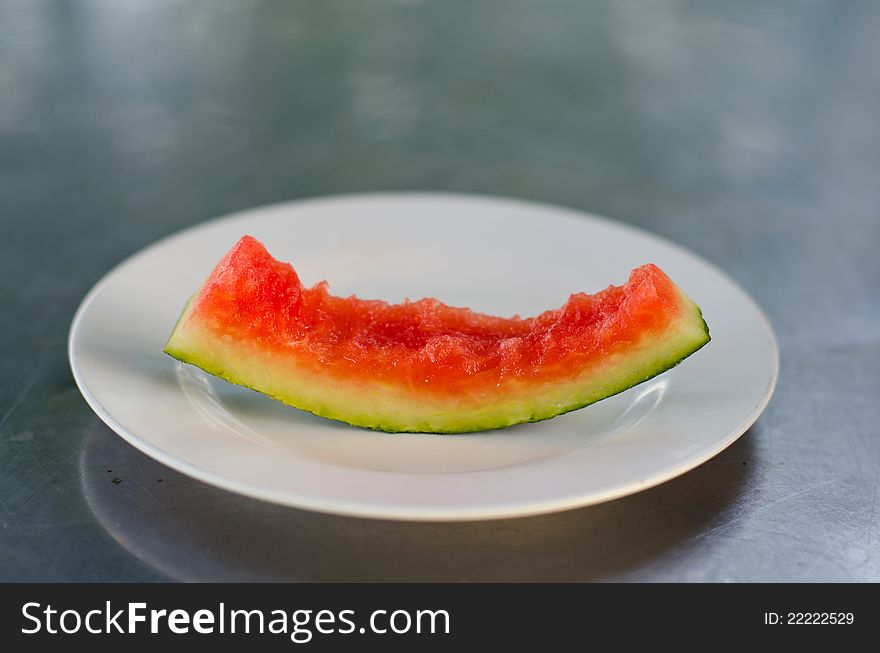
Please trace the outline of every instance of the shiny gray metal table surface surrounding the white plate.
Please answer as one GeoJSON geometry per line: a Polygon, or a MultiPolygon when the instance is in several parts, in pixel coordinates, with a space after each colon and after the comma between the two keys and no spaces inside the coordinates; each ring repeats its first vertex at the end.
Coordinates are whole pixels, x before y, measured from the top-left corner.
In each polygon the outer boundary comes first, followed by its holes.
{"type": "Polygon", "coordinates": [[[0,579],[880,580],[878,29],[870,1],[0,1],[0,579]],[[89,410],[66,337],[114,264],[372,190],[690,248],[775,325],[776,396],[655,489],[462,524],[243,498],[89,410]]]}

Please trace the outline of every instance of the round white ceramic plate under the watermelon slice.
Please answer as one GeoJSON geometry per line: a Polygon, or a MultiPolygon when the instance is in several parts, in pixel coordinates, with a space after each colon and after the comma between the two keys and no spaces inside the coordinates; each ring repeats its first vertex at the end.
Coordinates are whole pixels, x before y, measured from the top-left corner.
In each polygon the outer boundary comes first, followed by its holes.
{"type": "Polygon", "coordinates": [[[417,520],[530,515],[682,474],[739,437],[776,383],[773,332],[717,269],[655,236],[571,210],[461,195],[361,195],[207,222],[129,258],[83,300],[70,365],[86,401],[153,458],[207,483],[325,512],[417,520]],[[703,309],[712,342],[616,397],[537,424],[388,435],[284,406],[162,353],[189,296],[243,234],[304,283],[536,314],[652,261],[703,309]]]}

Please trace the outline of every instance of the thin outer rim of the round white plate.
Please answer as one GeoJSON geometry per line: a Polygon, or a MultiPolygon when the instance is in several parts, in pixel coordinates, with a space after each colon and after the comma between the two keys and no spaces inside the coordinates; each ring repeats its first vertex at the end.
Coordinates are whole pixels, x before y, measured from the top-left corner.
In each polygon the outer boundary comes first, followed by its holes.
{"type": "Polygon", "coordinates": [[[154,460],[170,467],[171,469],[181,474],[184,474],[191,478],[195,478],[198,481],[207,483],[213,487],[217,487],[228,492],[234,492],[247,497],[251,497],[253,499],[267,501],[276,505],[282,505],[302,510],[310,510],[325,514],[342,515],[347,517],[424,522],[468,522],[530,517],[534,515],[554,513],[564,510],[572,510],[576,508],[596,505],[629,496],[643,490],[656,487],[658,485],[662,485],[667,481],[687,474],[688,472],[699,467],[708,460],[714,458],[722,451],[727,449],[734,442],[736,442],[746,431],[748,431],[769,404],[779,380],[780,369],[780,351],[776,334],[773,330],[771,321],[765,314],[764,310],[757,303],[757,301],[755,301],[752,295],[747,292],[735,279],[730,277],[730,275],[718,268],[714,263],[705,259],[700,254],[687,249],[683,245],[679,245],[678,243],[669,240],[664,236],[660,236],[648,229],[636,227],[625,222],[620,222],[613,218],[605,217],[603,215],[581,210],[575,207],[550,204],[546,202],[512,196],[443,191],[358,192],[318,195],[298,199],[282,200],[279,202],[245,208],[234,211],[232,213],[208,218],[207,220],[200,221],[198,223],[186,226],[182,229],[167,234],[123,258],[121,261],[112,266],[110,270],[108,270],[104,275],[102,275],[98,279],[98,281],[96,281],[95,284],[90,288],[90,290],[86,293],[86,295],[79,303],[76,311],[74,312],[73,319],[71,320],[67,338],[67,355],[68,364],[73,375],[74,382],[76,383],[86,403],[97,415],[97,417],[102,422],[104,422],[104,424],[106,424],[114,433],[119,435],[130,445],[132,445],[142,453],[146,454],[150,458],[153,458],[154,460]],[[78,369],[78,365],[76,363],[77,356],[75,351],[77,334],[79,332],[79,329],[81,328],[82,320],[88,312],[91,304],[95,301],[95,299],[100,295],[103,289],[110,283],[115,274],[121,268],[142,256],[148,255],[152,250],[162,247],[167,241],[184,236],[191,231],[196,231],[209,225],[217,225],[245,216],[254,216],[254,214],[258,213],[271,213],[285,207],[299,207],[305,204],[335,203],[340,201],[393,201],[401,199],[409,201],[452,199],[470,202],[487,202],[494,204],[507,203],[520,206],[525,205],[526,207],[530,207],[536,210],[549,209],[554,213],[557,213],[560,217],[564,216],[581,221],[583,221],[584,218],[588,218],[590,220],[611,225],[615,228],[638,235],[643,238],[647,237],[651,240],[662,243],[664,246],[673,249],[679,254],[683,254],[685,256],[691,257],[692,259],[695,259],[701,265],[711,269],[714,273],[723,278],[726,283],[730,284],[743,296],[743,298],[748,302],[752,310],[755,312],[755,315],[758,317],[758,322],[760,323],[762,330],[767,336],[767,341],[770,344],[770,349],[772,352],[771,376],[769,383],[763,391],[761,399],[755,404],[754,408],[748,414],[748,416],[744,417],[740,421],[739,425],[736,428],[734,428],[729,434],[727,434],[726,437],[719,440],[715,447],[712,447],[707,452],[704,452],[702,455],[694,457],[693,459],[690,459],[687,462],[682,463],[671,470],[667,470],[662,473],[655,473],[650,475],[648,478],[639,479],[630,483],[624,483],[618,487],[608,489],[604,492],[594,491],[587,496],[562,496],[556,499],[542,499],[533,502],[517,502],[512,505],[495,504],[492,506],[457,507],[454,509],[447,507],[411,508],[394,504],[378,504],[376,502],[364,504],[356,501],[339,501],[332,499],[322,500],[320,498],[312,497],[310,495],[297,494],[293,496],[293,493],[290,492],[282,493],[272,490],[260,490],[260,488],[255,488],[247,483],[235,479],[230,479],[221,474],[207,470],[197,464],[183,460],[175,456],[174,454],[165,451],[161,447],[153,445],[150,442],[142,439],[140,436],[138,436],[129,428],[120,423],[97,400],[97,398],[89,388],[88,383],[86,383],[86,380],[83,378],[82,371],[78,369]]]}

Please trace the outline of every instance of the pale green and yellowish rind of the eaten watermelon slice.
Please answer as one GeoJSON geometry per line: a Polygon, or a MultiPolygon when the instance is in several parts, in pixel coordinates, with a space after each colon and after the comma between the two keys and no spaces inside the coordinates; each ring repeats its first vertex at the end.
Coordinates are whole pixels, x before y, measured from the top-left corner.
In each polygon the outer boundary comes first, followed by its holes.
{"type": "MultiPolygon", "coordinates": [[[[671,283],[671,282],[670,282],[671,283]]],[[[705,346],[709,329],[699,307],[676,288],[680,310],[675,324],[657,337],[645,337],[627,351],[590,366],[581,377],[534,383],[510,379],[503,394],[464,409],[435,403],[393,384],[323,378],[280,362],[259,343],[218,336],[193,328],[191,300],[175,326],[165,352],[230,383],[320,417],[388,433],[465,433],[538,422],[578,410],[639,385],[675,367],[705,346]]]]}

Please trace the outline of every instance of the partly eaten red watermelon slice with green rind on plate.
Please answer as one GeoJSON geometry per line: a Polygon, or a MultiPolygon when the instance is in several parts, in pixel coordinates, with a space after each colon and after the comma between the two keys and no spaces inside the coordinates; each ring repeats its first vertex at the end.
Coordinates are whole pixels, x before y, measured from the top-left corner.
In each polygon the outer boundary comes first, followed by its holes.
{"type": "Polygon", "coordinates": [[[389,304],[303,287],[244,236],[183,311],[165,351],[316,415],[389,432],[461,433],[576,410],[709,342],[700,309],[655,265],[532,318],[436,299],[389,304]]]}

